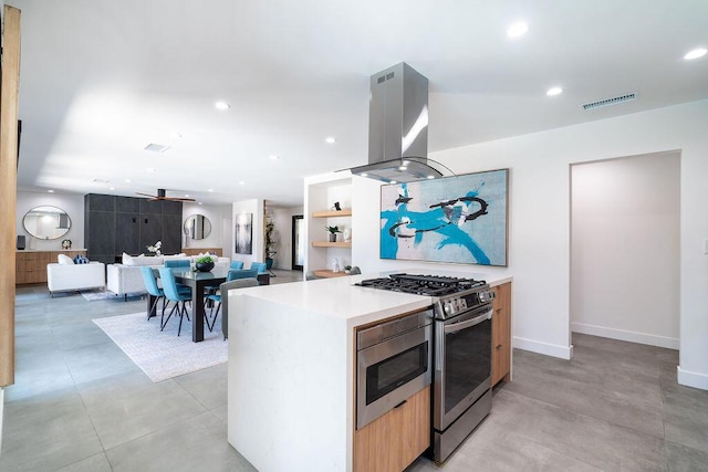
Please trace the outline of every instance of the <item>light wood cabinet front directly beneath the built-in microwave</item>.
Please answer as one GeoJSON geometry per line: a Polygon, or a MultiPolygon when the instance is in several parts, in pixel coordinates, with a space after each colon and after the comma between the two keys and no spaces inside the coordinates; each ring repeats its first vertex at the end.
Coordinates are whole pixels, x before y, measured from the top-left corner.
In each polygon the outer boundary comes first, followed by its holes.
{"type": "Polygon", "coordinates": [[[354,434],[354,470],[400,472],[430,445],[430,386],[354,434]]]}

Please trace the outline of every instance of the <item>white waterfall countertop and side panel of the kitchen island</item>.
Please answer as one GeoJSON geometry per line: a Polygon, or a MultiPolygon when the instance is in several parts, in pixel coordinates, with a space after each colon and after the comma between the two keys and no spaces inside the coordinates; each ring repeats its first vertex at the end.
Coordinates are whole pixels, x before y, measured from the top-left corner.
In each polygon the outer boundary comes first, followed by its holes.
{"type": "Polygon", "coordinates": [[[372,276],[230,293],[228,440],[259,471],[352,470],[354,328],[431,304],[353,285],[372,276]]]}

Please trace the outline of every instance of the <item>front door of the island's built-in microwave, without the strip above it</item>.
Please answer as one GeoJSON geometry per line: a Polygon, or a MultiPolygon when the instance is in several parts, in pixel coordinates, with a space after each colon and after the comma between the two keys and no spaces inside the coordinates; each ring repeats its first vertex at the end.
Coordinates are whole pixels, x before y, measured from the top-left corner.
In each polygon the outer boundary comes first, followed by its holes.
{"type": "Polygon", "coordinates": [[[428,324],[356,354],[356,429],[430,385],[431,340],[428,324]]]}

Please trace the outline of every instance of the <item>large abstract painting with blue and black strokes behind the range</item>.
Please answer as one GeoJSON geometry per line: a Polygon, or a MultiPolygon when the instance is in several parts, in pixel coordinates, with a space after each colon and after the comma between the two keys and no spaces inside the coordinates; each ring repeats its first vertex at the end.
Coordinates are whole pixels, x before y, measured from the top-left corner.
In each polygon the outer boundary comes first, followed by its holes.
{"type": "Polygon", "coordinates": [[[507,265],[509,169],[382,186],[381,258],[507,265]]]}

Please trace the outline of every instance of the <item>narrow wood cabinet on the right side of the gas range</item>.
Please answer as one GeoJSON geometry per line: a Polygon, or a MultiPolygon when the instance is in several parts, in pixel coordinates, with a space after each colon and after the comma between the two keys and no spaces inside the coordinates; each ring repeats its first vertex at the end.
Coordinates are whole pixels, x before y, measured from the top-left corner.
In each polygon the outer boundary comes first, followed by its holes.
{"type": "Polygon", "coordinates": [[[511,380],[511,282],[494,289],[491,318],[491,385],[511,380]]]}

